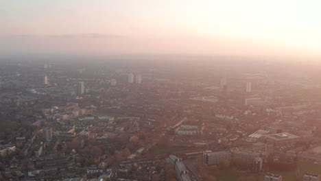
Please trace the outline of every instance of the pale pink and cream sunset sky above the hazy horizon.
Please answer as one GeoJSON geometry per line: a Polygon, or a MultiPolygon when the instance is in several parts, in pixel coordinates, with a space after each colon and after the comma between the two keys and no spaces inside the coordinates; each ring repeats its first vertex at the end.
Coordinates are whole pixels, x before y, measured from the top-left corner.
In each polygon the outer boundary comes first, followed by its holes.
{"type": "Polygon", "coordinates": [[[319,58],[320,7],[320,0],[0,0],[0,55],[319,58]]]}

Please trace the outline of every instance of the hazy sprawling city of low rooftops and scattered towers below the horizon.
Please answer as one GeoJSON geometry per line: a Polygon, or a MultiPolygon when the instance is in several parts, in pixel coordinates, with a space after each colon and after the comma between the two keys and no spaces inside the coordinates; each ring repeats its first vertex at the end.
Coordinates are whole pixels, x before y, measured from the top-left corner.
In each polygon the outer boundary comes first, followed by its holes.
{"type": "Polygon", "coordinates": [[[1,178],[320,180],[320,75],[215,64],[1,62],[1,178]]]}

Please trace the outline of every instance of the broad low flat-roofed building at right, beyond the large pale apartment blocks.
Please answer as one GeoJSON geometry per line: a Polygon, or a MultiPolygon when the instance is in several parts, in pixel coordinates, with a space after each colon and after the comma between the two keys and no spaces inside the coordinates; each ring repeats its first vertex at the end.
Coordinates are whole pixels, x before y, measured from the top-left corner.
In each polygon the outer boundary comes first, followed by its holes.
{"type": "Polygon", "coordinates": [[[279,145],[287,145],[290,143],[296,143],[297,141],[300,141],[301,137],[296,136],[294,134],[289,134],[287,132],[281,132],[276,134],[270,134],[266,136],[266,141],[268,143],[272,143],[273,145],[279,146],[279,145]]]}

